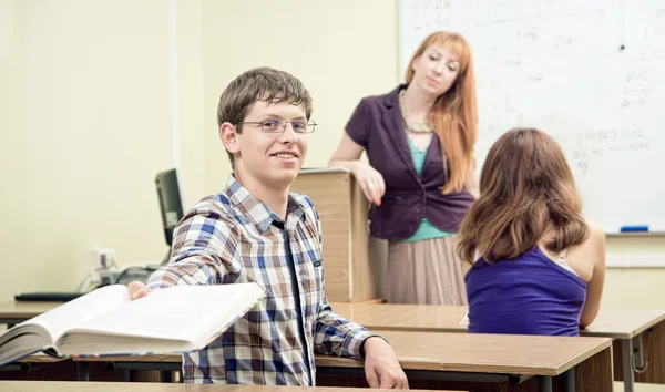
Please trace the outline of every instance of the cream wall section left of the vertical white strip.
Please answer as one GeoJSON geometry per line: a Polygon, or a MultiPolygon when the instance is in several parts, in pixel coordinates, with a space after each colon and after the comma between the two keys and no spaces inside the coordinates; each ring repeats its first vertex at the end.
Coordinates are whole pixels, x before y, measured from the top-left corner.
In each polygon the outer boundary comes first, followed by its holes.
{"type": "Polygon", "coordinates": [[[165,2],[1,4],[0,300],[76,289],[91,248],[115,249],[123,265],[160,260],[165,2]]]}

